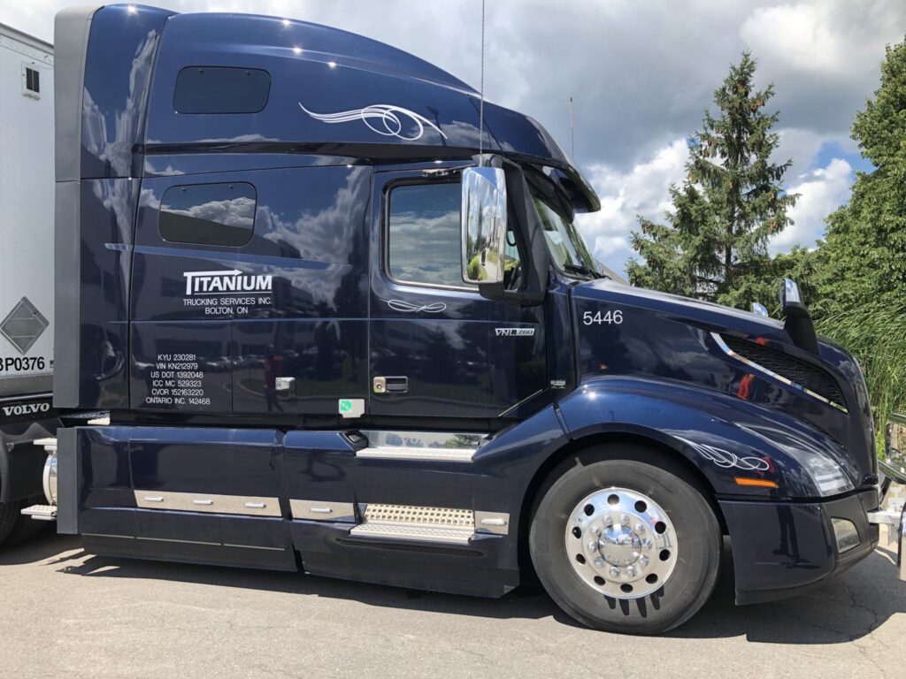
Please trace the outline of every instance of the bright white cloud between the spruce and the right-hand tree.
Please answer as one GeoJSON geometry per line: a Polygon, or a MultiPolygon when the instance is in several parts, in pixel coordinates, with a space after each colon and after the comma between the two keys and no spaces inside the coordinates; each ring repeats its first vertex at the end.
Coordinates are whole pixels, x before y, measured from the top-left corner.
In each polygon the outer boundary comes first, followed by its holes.
{"type": "Polygon", "coordinates": [[[827,167],[806,173],[799,183],[790,186],[790,193],[799,194],[789,212],[794,225],[771,240],[771,251],[783,252],[793,244],[813,247],[824,234],[824,218],[849,199],[853,178],[853,167],[843,158],[834,158],[827,167]]]}

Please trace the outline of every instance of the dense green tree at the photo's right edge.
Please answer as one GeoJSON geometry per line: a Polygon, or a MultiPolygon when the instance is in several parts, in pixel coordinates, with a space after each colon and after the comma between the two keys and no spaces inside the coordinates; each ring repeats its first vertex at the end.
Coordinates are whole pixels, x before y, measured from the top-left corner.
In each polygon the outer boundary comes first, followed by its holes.
{"type": "Polygon", "coordinates": [[[875,169],[827,218],[811,306],[818,330],[861,360],[882,423],[906,409],[906,43],[888,47],[853,139],[875,169]]]}

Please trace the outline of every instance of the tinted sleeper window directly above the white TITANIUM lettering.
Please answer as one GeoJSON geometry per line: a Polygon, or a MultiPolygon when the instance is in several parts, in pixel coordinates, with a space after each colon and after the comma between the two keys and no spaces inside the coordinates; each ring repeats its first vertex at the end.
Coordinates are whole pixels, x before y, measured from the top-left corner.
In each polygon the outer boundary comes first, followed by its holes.
{"type": "Polygon", "coordinates": [[[160,235],[173,243],[245,245],[255,228],[256,197],[244,182],[170,186],[160,201],[160,235]]]}

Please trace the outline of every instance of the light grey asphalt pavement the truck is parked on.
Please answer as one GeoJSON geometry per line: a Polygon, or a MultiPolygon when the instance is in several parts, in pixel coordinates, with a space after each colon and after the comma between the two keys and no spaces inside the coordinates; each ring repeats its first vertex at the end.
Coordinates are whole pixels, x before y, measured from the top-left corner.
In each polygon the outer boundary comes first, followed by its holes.
{"type": "Polygon", "coordinates": [[[48,532],[0,551],[2,677],[906,677],[906,582],[882,546],[785,602],[710,602],[660,637],[577,626],[546,595],[412,592],[94,557],[48,532]]]}

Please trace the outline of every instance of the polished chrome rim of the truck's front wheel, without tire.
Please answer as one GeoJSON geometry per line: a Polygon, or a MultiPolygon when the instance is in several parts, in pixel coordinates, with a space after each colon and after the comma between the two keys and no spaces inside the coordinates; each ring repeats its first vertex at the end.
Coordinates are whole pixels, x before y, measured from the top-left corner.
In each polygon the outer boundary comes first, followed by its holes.
{"type": "Polygon", "coordinates": [[[566,553],[576,574],[613,598],[658,591],[677,563],[677,537],[667,512],[628,488],[595,491],[566,521],[566,553]]]}

